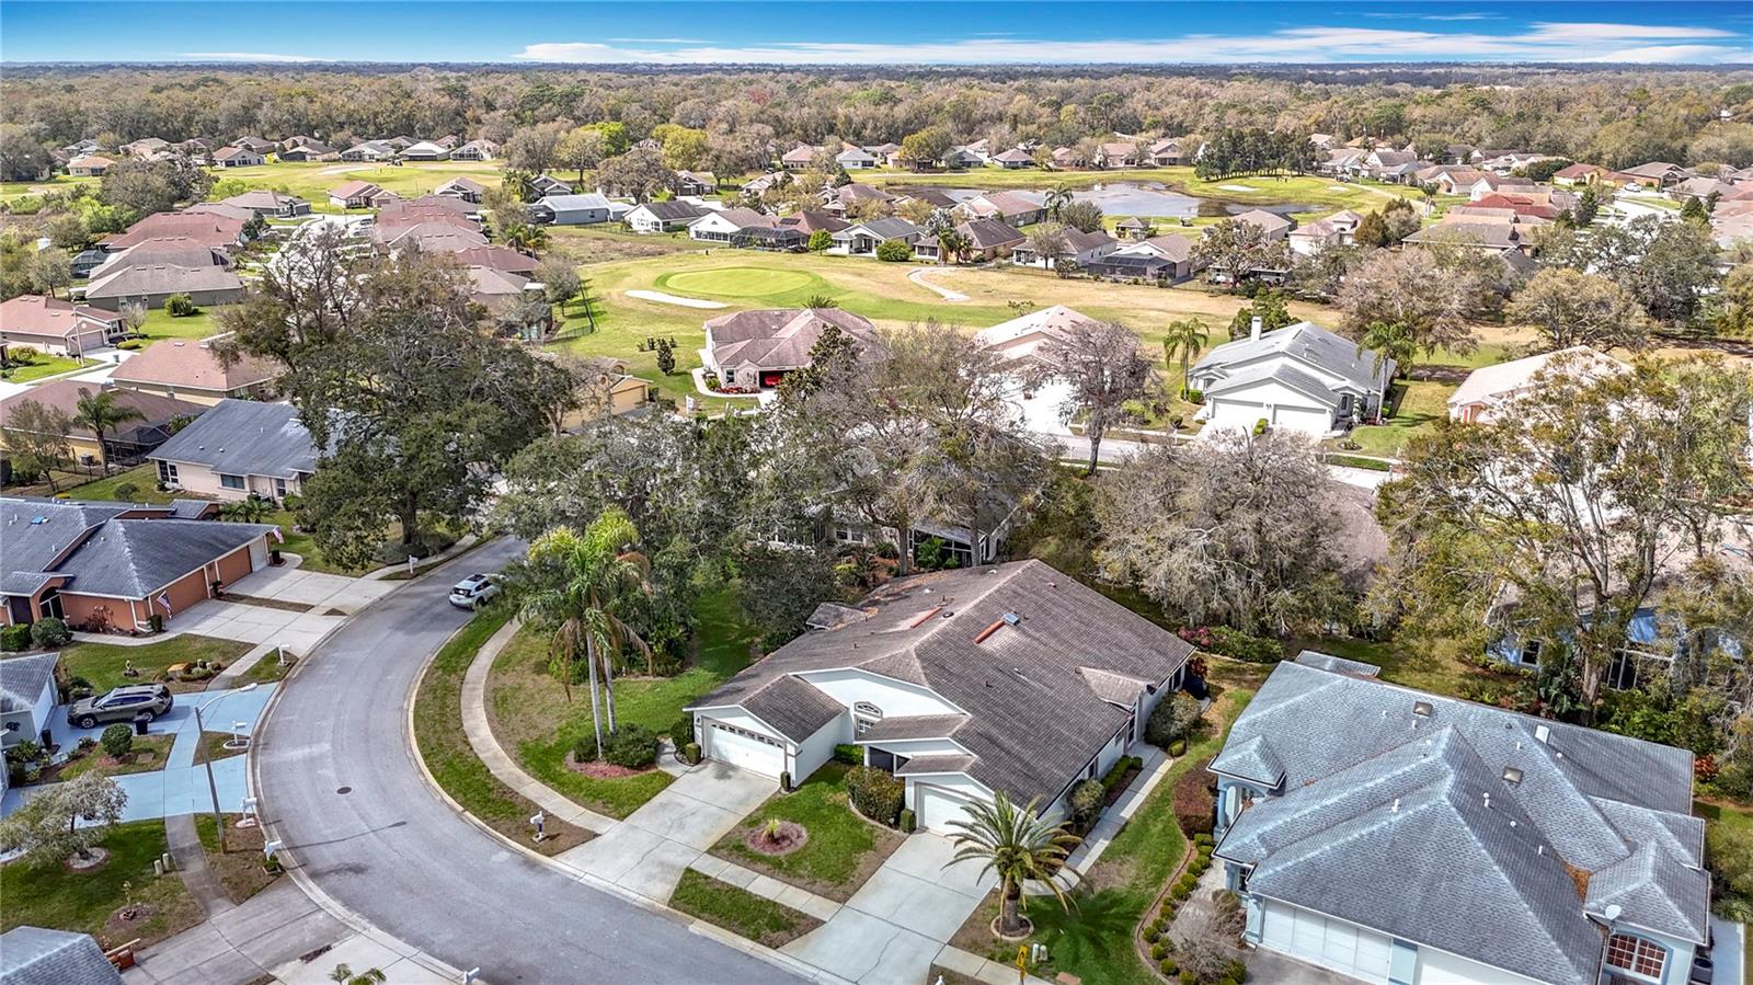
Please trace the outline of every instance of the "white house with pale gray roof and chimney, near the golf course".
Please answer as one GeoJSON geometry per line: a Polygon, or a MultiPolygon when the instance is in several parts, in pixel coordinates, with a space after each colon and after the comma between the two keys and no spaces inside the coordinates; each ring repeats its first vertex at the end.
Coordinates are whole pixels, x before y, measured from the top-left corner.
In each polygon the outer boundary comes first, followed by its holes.
{"type": "Polygon", "coordinates": [[[1225,342],[1201,358],[1187,379],[1204,393],[1199,419],[1210,428],[1269,428],[1325,436],[1352,422],[1374,421],[1394,380],[1394,359],[1299,321],[1225,342]]]}

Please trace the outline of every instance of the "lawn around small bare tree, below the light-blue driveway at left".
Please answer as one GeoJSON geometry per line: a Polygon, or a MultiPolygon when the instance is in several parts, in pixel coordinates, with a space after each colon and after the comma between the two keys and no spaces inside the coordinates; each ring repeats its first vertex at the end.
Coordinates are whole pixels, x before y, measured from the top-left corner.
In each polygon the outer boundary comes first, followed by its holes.
{"type": "Polygon", "coordinates": [[[81,931],[112,948],[135,938],[142,945],[160,941],[202,922],[200,904],[177,875],[153,875],[153,862],[168,850],[163,820],[117,824],[98,847],[110,854],[109,861],[84,873],[58,859],[0,866],[0,931],[25,924],[81,931]],[[142,918],[109,925],[126,903],[138,904],[142,918]]]}

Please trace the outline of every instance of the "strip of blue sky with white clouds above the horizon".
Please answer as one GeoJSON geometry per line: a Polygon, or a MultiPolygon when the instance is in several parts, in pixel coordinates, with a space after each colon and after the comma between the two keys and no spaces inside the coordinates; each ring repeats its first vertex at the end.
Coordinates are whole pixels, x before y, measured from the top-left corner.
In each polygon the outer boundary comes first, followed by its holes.
{"type": "Polygon", "coordinates": [[[4,0],[0,61],[1753,63],[1748,2],[4,0]]]}

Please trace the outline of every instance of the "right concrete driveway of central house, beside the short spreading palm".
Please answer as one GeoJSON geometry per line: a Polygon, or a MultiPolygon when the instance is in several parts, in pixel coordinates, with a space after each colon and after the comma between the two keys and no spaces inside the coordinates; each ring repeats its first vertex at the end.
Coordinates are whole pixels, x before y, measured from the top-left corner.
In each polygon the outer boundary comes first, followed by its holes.
{"type": "Polygon", "coordinates": [[[997,876],[955,862],[948,838],[910,834],[847,904],[782,950],[859,985],[913,985],[997,876]]]}

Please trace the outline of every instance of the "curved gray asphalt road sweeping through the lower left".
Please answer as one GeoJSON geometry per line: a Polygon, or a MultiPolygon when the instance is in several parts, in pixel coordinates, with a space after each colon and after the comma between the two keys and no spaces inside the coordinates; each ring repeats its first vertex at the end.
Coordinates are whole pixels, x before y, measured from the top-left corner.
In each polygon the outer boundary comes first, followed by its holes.
{"type": "Polygon", "coordinates": [[[494,985],[799,981],[507,848],[426,785],[407,703],[426,657],[468,620],[445,594],[519,547],[505,538],[408,582],[312,654],[256,745],[263,817],[338,903],[494,985]]]}

